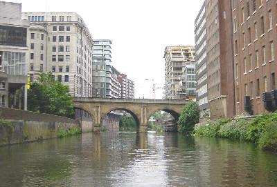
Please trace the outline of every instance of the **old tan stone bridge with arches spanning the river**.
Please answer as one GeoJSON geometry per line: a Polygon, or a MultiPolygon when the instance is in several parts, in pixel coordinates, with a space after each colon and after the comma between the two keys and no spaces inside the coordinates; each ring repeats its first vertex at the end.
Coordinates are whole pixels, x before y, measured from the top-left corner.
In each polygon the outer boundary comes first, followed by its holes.
{"type": "Polygon", "coordinates": [[[74,107],[86,110],[92,116],[94,130],[100,131],[102,119],[113,110],[129,112],[136,121],[136,132],[147,132],[148,120],[155,112],[163,110],[170,113],[175,119],[188,100],[169,99],[107,99],[74,97],[74,107]]]}

